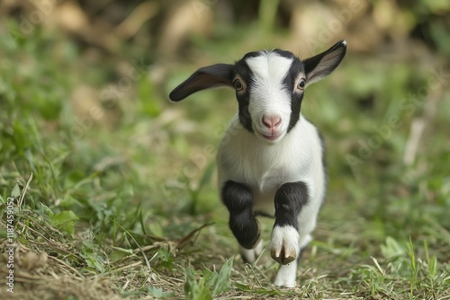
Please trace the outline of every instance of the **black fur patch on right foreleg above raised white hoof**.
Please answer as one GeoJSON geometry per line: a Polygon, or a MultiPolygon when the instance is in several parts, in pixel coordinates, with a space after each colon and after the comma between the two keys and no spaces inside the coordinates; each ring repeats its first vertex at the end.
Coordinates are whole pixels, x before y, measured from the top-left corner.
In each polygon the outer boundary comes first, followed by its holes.
{"type": "Polygon", "coordinates": [[[298,230],[297,217],[308,204],[308,187],[304,182],[284,183],[275,193],[275,226],[291,225],[298,230]]]}

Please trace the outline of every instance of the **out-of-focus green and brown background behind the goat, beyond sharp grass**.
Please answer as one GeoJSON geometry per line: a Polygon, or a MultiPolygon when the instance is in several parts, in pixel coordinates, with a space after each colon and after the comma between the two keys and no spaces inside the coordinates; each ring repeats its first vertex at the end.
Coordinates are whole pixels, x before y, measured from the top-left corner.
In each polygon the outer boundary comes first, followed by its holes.
{"type": "Polygon", "coordinates": [[[347,40],[302,105],[328,148],[320,246],[411,236],[450,260],[449,1],[2,0],[0,20],[2,190],[34,172],[33,201],[94,233],[109,216],[158,236],[212,219],[229,240],[208,242],[233,249],[214,177],[233,92],[168,93],[248,51],[306,58],[347,40]]]}

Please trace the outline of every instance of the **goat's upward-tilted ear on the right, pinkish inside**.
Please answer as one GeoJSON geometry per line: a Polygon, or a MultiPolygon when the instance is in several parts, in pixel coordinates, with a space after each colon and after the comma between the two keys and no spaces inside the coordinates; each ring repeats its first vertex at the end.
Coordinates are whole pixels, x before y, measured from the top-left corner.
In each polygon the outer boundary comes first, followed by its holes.
{"type": "Polygon", "coordinates": [[[333,47],[314,57],[302,61],[306,73],[306,84],[320,81],[340,64],[346,55],[347,42],[340,40],[333,47]]]}

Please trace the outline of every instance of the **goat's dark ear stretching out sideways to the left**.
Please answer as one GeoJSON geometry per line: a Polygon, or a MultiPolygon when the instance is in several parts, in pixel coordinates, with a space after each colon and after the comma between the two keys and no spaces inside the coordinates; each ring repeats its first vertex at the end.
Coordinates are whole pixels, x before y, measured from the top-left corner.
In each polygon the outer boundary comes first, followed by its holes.
{"type": "Polygon", "coordinates": [[[232,86],[233,65],[217,64],[204,66],[187,78],[183,84],[175,87],[169,94],[171,101],[182,101],[192,93],[218,86],[232,86]]]}

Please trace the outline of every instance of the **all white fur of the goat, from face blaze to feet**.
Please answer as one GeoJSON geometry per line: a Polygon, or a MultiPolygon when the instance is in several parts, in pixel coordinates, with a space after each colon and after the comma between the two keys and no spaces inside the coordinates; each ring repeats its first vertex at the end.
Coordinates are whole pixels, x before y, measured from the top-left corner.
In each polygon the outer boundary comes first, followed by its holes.
{"type": "MultiPolygon", "coordinates": [[[[253,210],[274,216],[275,192],[286,182],[302,181],[308,187],[308,204],[298,216],[299,231],[292,226],[275,226],[270,251],[295,253],[311,241],[322,199],[325,195],[325,171],[322,164],[322,145],[317,129],[305,118],[286,135],[291,116],[291,96],[282,82],[292,60],[270,54],[247,59],[254,72],[254,88],[250,92],[249,111],[256,133],[243,128],[238,115],[232,119],[218,153],[219,187],[226,181],[245,182],[252,191],[253,210]],[[282,125],[281,137],[270,144],[258,133],[264,134],[260,120],[265,115],[278,115],[282,125]]],[[[253,262],[260,253],[262,242],[254,250],[240,247],[241,254],[253,262]]],[[[276,275],[275,285],[295,286],[297,260],[282,265],[276,275]]]]}

